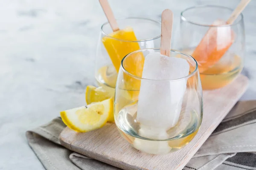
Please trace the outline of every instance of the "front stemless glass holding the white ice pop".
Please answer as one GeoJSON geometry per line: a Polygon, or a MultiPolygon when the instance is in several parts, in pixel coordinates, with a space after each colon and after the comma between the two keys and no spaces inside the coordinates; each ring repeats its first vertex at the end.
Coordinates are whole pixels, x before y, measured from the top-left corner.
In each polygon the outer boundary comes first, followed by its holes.
{"type": "Polygon", "coordinates": [[[193,57],[179,51],[171,50],[170,56],[186,59],[189,63],[189,75],[186,77],[168,80],[144,79],[143,62],[130,69],[134,66],[131,61],[152,52],[160,52],[160,49],[134,51],[122,59],[116,81],[114,118],[122,137],[131,146],[145,153],[165,154],[184,147],[198,132],[203,115],[202,88],[197,62],[193,57]],[[140,94],[140,85],[145,82],[154,89],[144,88],[144,93],[140,94]],[[180,83],[183,83],[181,89],[180,83]],[[145,95],[142,101],[139,94],[145,95]],[[144,120],[138,119],[141,114],[137,109],[138,105],[141,107],[141,102],[148,105],[144,120]],[[166,117],[163,117],[161,109],[166,107],[165,104],[170,109],[164,112],[166,117]],[[152,107],[157,108],[154,109],[157,113],[151,112],[152,107]]]}

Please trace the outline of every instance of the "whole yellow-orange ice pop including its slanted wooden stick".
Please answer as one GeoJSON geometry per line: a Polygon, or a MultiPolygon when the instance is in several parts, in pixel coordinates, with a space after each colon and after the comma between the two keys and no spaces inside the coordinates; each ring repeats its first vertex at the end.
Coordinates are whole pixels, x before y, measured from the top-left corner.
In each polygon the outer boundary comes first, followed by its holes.
{"type": "MultiPolygon", "coordinates": [[[[108,18],[108,21],[111,25],[113,33],[109,34],[102,38],[102,42],[105,46],[106,51],[108,52],[109,57],[113,63],[113,66],[116,69],[116,72],[119,71],[122,58],[125,57],[127,54],[137,51],[140,49],[140,45],[137,41],[137,38],[134,34],[133,28],[127,27],[124,29],[119,29],[116,20],[113,16],[111,8],[108,4],[107,0],[99,0],[101,6],[108,18]]],[[[143,53],[137,53],[136,57],[130,57],[126,61],[126,71],[129,73],[141,77],[142,70],[144,64],[144,56],[143,53]]],[[[125,89],[130,90],[129,96],[137,96],[134,95],[134,90],[138,91],[140,88],[140,81],[132,79],[131,77],[124,74],[125,79],[125,89]]]]}

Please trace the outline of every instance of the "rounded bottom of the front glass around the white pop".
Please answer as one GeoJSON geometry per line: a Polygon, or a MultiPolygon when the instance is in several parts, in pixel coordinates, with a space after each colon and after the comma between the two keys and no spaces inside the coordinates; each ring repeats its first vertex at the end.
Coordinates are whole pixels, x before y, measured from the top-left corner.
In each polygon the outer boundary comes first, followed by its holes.
{"type": "Polygon", "coordinates": [[[197,134],[201,125],[198,113],[191,111],[180,113],[177,124],[168,130],[159,130],[153,127],[145,128],[137,122],[137,104],[126,106],[119,113],[116,119],[116,126],[119,133],[126,139],[132,147],[149,154],[166,154],[180,150],[186,146],[197,134]],[[144,129],[143,129],[144,128],[144,129]],[[159,136],[165,133],[168,139],[148,139],[142,136],[141,132],[152,136],[159,136]]]}

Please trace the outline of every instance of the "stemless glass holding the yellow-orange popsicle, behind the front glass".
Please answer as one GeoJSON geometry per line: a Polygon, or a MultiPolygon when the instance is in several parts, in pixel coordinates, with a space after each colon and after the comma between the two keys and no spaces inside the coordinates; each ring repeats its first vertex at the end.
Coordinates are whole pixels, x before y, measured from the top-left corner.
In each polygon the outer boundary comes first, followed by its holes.
{"type": "Polygon", "coordinates": [[[120,30],[132,28],[137,40],[129,40],[133,36],[131,32],[126,33],[125,40],[114,37],[108,22],[101,27],[95,59],[95,78],[97,84],[111,96],[115,92],[122,58],[139,49],[160,47],[160,22],[146,18],[121,18],[117,19],[117,24],[120,30]]]}

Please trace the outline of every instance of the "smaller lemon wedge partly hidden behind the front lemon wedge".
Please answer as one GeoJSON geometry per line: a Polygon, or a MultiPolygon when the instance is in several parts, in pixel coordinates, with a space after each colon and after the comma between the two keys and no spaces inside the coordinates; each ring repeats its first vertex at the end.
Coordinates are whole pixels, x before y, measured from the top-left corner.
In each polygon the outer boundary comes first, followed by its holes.
{"type": "Polygon", "coordinates": [[[92,102],[101,102],[105,99],[111,98],[111,95],[104,90],[102,87],[94,87],[92,85],[88,85],[85,91],[85,101],[87,105],[92,102]]]}

